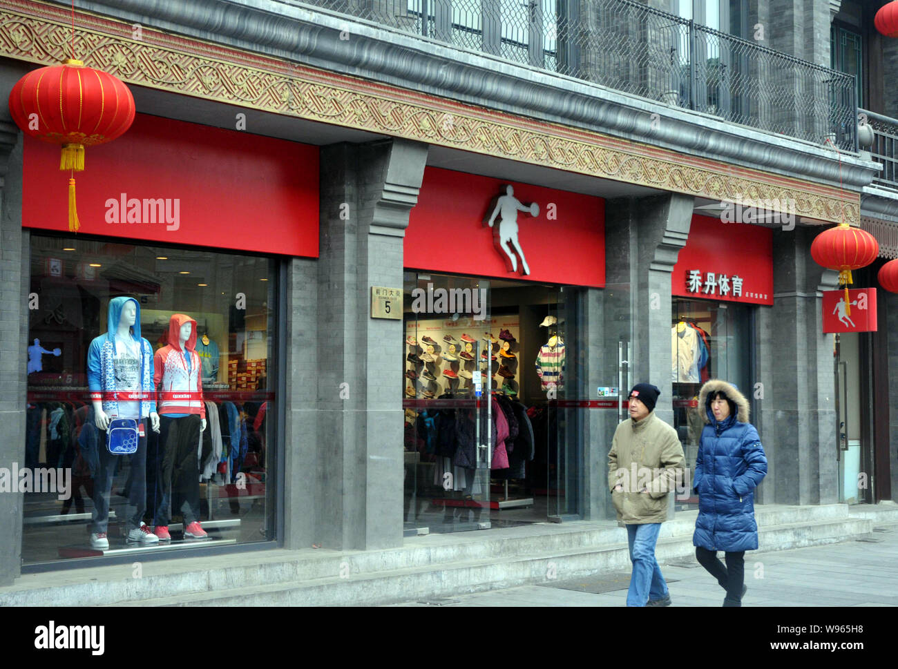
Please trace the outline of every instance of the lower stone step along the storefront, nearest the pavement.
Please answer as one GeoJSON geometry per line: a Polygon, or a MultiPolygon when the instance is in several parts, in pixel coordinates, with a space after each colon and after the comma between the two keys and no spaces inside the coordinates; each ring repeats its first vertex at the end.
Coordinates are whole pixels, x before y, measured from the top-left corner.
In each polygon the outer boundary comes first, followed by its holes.
{"type": "MultiPolygon", "coordinates": [[[[816,524],[781,524],[762,527],[758,553],[822,545],[864,536],[872,522],[839,519],[816,524]]],[[[750,553],[755,555],[757,553],[750,553]]],[[[693,560],[691,539],[659,539],[659,562],[693,560]]],[[[762,561],[762,560],[761,560],[762,561]]],[[[629,568],[627,544],[557,552],[541,551],[514,558],[456,560],[436,566],[401,568],[365,573],[348,571],[346,577],[305,579],[289,583],[244,585],[226,591],[154,597],[133,606],[229,606],[229,605],[374,605],[434,599],[453,594],[568,580],[629,568]]]]}

